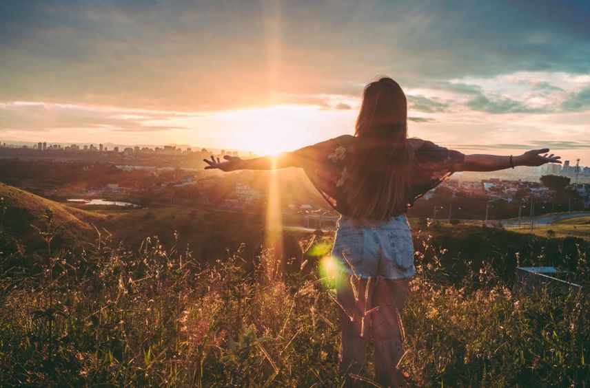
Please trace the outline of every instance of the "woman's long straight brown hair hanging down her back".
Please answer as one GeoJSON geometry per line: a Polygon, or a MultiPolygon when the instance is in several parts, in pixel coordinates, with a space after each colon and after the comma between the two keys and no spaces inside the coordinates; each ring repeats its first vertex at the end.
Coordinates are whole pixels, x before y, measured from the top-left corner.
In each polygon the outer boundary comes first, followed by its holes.
{"type": "Polygon", "coordinates": [[[405,213],[410,169],[407,100],[396,81],[384,77],[365,87],[355,136],[348,171],[351,215],[385,221],[405,213]]]}

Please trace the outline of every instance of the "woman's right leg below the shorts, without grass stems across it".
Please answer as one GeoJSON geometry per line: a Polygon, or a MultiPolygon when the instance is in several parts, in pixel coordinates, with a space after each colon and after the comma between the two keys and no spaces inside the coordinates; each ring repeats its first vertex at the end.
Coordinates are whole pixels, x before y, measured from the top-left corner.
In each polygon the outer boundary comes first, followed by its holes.
{"type": "Polygon", "coordinates": [[[374,285],[370,312],[375,343],[376,382],[384,387],[397,387],[396,365],[402,356],[398,310],[403,308],[409,279],[391,280],[378,277],[374,285]]]}

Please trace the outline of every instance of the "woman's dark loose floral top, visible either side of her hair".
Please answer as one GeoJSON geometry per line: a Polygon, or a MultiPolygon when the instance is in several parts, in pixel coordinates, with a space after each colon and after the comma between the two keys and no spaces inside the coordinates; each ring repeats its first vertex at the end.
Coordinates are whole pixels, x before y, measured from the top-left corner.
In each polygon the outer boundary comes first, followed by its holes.
{"type": "MultiPolygon", "coordinates": [[[[328,204],[343,215],[349,215],[345,200],[350,160],[347,154],[355,140],[351,135],[338,136],[292,153],[294,165],[303,168],[328,204]]],[[[414,149],[408,198],[411,207],[414,201],[451,176],[455,166],[465,159],[465,154],[427,140],[411,138],[408,141],[414,149]]]]}

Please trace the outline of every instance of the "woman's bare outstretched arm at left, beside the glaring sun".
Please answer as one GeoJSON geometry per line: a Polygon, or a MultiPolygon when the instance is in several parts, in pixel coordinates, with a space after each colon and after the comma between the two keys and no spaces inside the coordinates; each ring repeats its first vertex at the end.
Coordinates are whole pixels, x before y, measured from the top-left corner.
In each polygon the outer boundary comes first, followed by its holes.
{"type": "Polygon", "coordinates": [[[211,160],[203,159],[203,162],[209,164],[205,170],[220,169],[221,171],[236,170],[276,170],[286,169],[296,165],[295,155],[292,152],[283,152],[278,155],[262,156],[261,158],[241,159],[237,156],[225,155],[225,162],[219,158],[211,156],[211,160]]]}

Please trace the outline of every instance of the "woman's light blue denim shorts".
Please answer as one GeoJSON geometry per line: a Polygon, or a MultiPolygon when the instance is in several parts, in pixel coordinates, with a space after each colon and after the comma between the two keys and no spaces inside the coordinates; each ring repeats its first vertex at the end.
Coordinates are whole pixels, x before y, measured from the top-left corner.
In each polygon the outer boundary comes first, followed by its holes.
{"type": "Polygon", "coordinates": [[[414,244],[405,215],[362,225],[341,216],[332,257],[340,270],[362,278],[403,279],[416,274],[414,244]]]}

